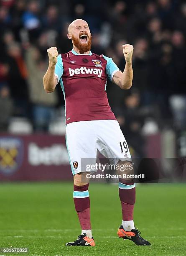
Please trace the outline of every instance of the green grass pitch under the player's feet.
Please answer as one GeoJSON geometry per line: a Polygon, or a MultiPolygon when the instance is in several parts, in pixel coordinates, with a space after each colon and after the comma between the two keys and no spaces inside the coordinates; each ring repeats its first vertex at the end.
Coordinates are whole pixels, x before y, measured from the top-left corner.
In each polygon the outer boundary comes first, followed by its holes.
{"type": "Polygon", "coordinates": [[[137,186],[135,225],[152,246],[136,246],[119,239],[117,185],[90,184],[96,246],[66,247],[66,242],[80,234],[72,191],[72,183],[1,183],[0,247],[28,247],[25,255],[35,256],[186,255],[185,184],[137,186]]]}

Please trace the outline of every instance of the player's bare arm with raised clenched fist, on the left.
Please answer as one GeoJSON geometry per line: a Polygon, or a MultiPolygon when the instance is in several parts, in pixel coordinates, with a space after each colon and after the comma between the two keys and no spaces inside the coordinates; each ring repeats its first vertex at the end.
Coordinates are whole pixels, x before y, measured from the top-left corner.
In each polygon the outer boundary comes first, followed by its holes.
{"type": "Polygon", "coordinates": [[[57,63],[58,51],[56,47],[51,47],[47,50],[49,64],[46,74],[43,77],[43,85],[44,89],[47,93],[54,92],[56,85],[58,83],[58,79],[55,76],[55,67],[57,63]]]}

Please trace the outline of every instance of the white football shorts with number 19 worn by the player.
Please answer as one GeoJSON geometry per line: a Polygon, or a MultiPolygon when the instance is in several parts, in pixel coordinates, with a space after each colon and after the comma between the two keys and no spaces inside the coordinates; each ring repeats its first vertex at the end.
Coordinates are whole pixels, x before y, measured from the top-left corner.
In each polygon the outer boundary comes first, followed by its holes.
{"type": "Polygon", "coordinates": [[[72,174],[87,172],[82,168],[82,159],[95,164],[97,149],[117,164],[131,161],[125,137],[116,120],[92,120],[73,122],[66,125],[66,147],[72,174]]]}

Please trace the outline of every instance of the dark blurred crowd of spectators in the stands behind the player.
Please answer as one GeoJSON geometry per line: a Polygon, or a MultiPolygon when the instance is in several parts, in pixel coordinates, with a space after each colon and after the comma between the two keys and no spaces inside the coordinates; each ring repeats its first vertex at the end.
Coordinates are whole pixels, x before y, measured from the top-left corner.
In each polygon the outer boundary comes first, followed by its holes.
{"type": "MultiPolygon", "coordinates": [[[[186,1],[0,0],[0,130],[11,117],[48,131],[64,105],[60,86],[43,90],[46,50],[72,49],[69,23],[82,18],[92,32],[92,51],[112,57],[123,71],[122,44],[134,45],[131,90],[108,82],[112,110],[136,151],[143,135],[170,126],[186,130],[186,1]]],[[[139,148],[139,149],[138,149],[139,148]]]]}

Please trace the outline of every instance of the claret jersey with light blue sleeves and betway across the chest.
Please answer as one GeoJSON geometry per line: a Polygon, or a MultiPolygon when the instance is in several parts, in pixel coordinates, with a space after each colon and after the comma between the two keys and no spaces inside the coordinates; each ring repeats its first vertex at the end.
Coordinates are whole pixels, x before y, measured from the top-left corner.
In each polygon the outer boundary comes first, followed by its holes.
{"type": "Polygon", "coordinates": [[[59,54],[55,75],[65,98],[66,124],[89,120],[116,120],[108,99],[107,78],[119,69],[104,55],[77,54],[74,50],[59,54]]]}

